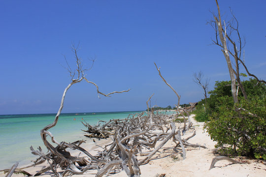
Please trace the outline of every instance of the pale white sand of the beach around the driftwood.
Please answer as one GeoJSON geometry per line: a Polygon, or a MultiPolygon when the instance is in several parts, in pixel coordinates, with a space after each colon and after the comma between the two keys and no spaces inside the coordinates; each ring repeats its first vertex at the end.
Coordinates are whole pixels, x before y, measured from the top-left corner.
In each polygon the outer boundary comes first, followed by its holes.
{"type": "MultiPolygon", "coordinates": [[[[178,152],[173,153],[173,150],[165,150],[166,148],[173,147],[174,143],[169,140],[166,145],[160,150],[161,153],[157,153],[153,160],[148,164],[140,166],[142,177],[159,177],[161,174],[165,174],[165,177],[265,177],[266,165],[265,161],[247,159],[245,157],[233,158],[235,160],[245,162],[245,164],[232,164],[229,161],[218,161],[214,168],[209,170],[212,159],[215,157],[213,154],[215,142],[213,142],[208,134],[203,131],[203,122],[197,122],[193,116],[191,118],[196,130],[196,136],[191,138],[188,142],[192,144],[200,144],[207,147],[205,148],[186,148],[186,159],[181,157],[181,149],[178,152]]],[[[178,123],[176,123],[178,124],[178,123]]],[[[186,138],[191,135],[191,132],[187,132],[182,138],[186,138]]],[[[96,141],[97,145],[102,146],[110,140],[96,141]]],[[[92,154],[96,154],[100,149],[97,146],[84,146],[86,150],[92,154]]],[[[76,152],[75,152],[76,153],[76,152]]],[[[81,154],[82,156],[82,154],[81,154]]],[[[141,158],[141,157],[140,157],[141,158]]],[[[31,174],[36,173],[43,166],[35,168],[25,169],[31,174]]],[[[74,175],[74,177],[95,177],[96,171],[90,171],[83,175],[74,175]]],[[[13,175],[16,177],[22,177],[22,175],[13,175]]],[[[42,175],[42,177],[49,177],[50,174],[42,175]]],[[[3,173],[0,177],[4,177],[3,173]]],[[[110,175],[110,177],[127,177],[124,171],[120,173],[110,175]]]]}

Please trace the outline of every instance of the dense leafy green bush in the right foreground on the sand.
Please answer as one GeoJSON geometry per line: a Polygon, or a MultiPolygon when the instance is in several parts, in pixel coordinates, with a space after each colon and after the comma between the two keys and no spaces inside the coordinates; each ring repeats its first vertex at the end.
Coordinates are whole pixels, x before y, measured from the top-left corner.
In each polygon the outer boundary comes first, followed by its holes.
{"type": "Polygon", "coordinates": [[[217,110],[205,125],[216,148],[221,153],[245,155],[266,160],[266,96],[253,96],[249,100],[239,97],[217,98],[217,110]]]}

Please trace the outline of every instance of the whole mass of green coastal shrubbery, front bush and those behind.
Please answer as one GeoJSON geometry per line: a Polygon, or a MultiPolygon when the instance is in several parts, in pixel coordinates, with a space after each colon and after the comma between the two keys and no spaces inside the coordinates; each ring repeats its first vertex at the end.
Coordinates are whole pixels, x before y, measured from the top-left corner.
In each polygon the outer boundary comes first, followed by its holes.
{"type": "Polygon", "coordinates": [[[217,81],[207,104],[202,99],[196,107],[195,118],[206,121],[206,131],[222,154],[266,159],[266,85],[256,79],[242,85],[247,99],[240,92],[235,104],[231,81],[217,81]]]}

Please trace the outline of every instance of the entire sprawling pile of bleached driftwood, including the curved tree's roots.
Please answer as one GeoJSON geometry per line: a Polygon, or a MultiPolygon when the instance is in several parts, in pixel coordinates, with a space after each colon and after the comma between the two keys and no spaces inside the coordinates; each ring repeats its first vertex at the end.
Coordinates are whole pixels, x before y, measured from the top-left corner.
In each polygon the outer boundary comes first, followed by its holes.
{"type": "MultiPolygon", "coordinates": [[[[154,155],[162,150],[162,147],[170,139],[175,143],[175,146],[168,147],[167,150],[172,149],[172,153],[176,153],[180,148],[179,151],[182,151],[183,159],[186,158],[186,146],[205,148],[188,143],[187,140],[196,134],[195,131],[190,137],[181,139],[183,127],[176,127],[170,121],[170,117],[172,115],[143,112],[130,115],[125,119],[113,119],[102,125],[100,125],[102,121],[95,126],[84,123],[90,130],[96,132],[95,137],[97,134],[99,135],[97,138],[102,138],[103,135],[105,138],[108,136],[112,143],[102,147],[102,150],[99,150],[96,155],[92,155],[80,147],[84,141],[62,142],[46,154],[41,148],[35,150],[31,147],[32,153],[39,156],[34,164],[48,163],[46,168],[34,176],[47,171],[61,177],[97,170],[96,177],[102,177],[105,174],[108,176],[111,173],[124,170],[129,177],[139,177],[141,174],[139,166],[154,159],[154,155]],[[71,156],[69,148],[79,150],[86,155],[82,157],[71,156]]],[[[52,141],[56,140],[52,138],[52,141]]],[[[21,172],[19,170],[16,171],[21,172]]]]}

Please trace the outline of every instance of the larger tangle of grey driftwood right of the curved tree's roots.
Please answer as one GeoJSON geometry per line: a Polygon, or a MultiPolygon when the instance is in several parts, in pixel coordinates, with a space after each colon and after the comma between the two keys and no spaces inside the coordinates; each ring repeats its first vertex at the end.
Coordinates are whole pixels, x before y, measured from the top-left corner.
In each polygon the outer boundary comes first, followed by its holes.
{"type": "Polygon", "coordinates": [[[113,143],[108,145],[109,148],[105,146],[104,150],[99,151],[97,155],[97,158],[110,162],[98,166],[96,177],[110,173],[112,169],[116,168],[125,170],[129,177],[138,177],[141,174],[139,166],[147,164],[168,140],[180,135],[180,130],[176,130],[174,123],[169,124],[167,121],[169,116],[158,114],[158,112],[157,114],[154,112],[145,113],[130,115],[123,120],[110,120],[102,125],[100,123],[103,121],[98,122],[95,126],[83,123],[87,128],[93,129],[94,132],[96,130],[99,132],[99,136],[96,138],[101,138],[102,133],[109,133],[108,136],[112,136],[113,140],[113,143]],[[171,131],[167,133],[168,124],[171,131]],[[155,132],[155,130],[157,131],[155,132]],[[157,145],[158,143],[159,145],[157,145]],[[137,156],[146,157],[139,160],[137,156]]]}

